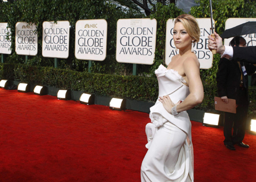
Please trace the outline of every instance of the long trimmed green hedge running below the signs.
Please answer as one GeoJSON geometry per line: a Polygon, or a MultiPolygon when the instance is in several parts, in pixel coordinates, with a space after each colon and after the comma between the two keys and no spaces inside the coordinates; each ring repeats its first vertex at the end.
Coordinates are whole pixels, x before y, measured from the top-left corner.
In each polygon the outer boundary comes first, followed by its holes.
{"type": "MultiPolygon", "coordinates": [[[[0,78],[145,102],[155,102],[158,97],[156,77],[106,75],[1,63],[0,78]]],[[[249,94],[249,116],[255,117],[256,86],[250,87],[249,94]]],[[[216,84],[204,85],[204,101],[194,109],[218,113],[214,110],[214,96],[217,96],[216,84]]]]}

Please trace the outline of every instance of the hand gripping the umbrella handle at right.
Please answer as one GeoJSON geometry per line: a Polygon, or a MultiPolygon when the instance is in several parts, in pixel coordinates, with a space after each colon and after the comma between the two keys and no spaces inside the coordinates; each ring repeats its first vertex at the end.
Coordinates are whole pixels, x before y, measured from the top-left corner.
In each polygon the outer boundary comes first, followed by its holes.
{"type": "Polygon", "coordinates": [[[214,34],[216,38],[215,41],[214,38],[212,38],[212,36],[208,35],[208,48],[210,49],[210,51],[212,51],[212,49],[216,49],[217,53],[220,53],[222,55],[225,51],[225,46],[223,46],[222,44],[222,38],[216,32],[214,32],[214,34]]]}

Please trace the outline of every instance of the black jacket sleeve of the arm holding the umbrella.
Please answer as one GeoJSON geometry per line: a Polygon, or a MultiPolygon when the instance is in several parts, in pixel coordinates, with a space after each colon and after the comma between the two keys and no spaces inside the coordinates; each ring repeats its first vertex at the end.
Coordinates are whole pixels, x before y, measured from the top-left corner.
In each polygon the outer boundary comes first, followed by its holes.
{"type": "Polygon", "coordinates": [[[233,60],[256,64],[256,46],[233,47],[233,60]]]}

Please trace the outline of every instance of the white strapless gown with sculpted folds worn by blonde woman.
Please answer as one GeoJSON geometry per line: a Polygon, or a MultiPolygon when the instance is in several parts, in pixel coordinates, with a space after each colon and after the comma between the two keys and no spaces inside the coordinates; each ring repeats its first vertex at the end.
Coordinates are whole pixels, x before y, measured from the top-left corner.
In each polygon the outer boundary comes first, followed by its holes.
{"type": "MultiPolygon", "coordinates": [[[[189,88],[179,73],[160,65],[155,74],[159,97],[168,95],[174,103],[185,100],[189,88]]],[[[194,181],[191,121],[187,111],[171,115],[157,100],[150,107],[150,119],[152,123],[146,126],[148,151],[141,166],[141,181],[194,181]]]]}

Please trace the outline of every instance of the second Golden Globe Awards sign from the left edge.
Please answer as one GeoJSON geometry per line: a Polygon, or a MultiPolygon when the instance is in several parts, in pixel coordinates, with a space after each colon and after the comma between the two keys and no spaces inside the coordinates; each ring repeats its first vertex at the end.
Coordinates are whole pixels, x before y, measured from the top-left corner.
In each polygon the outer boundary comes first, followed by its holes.
{"type": "Polygon", "coordinates": [[[17,55],[35,56],[38,53],[38,34],[35,24],[16,23],[15,51],[17,55]]]}

